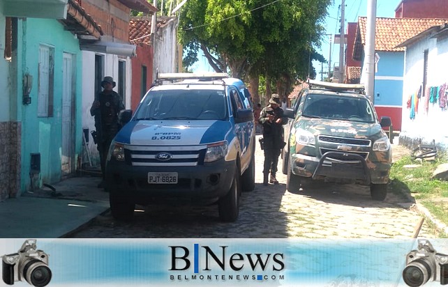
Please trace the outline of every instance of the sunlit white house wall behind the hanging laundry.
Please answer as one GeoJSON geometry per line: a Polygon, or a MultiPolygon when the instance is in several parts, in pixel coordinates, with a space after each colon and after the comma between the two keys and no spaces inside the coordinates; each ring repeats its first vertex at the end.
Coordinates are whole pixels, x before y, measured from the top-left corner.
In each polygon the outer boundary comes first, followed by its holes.
{"type": "Polygon", "coordinates": [[[448,144],[448,129],[444,128],[448,123],[448,111],[441,109],[438,102],[428,103],[421,97],[418,104],[418,112],[414,119],[410,119],[410,109],[406,102],[412,93],[415,93],[423,81],[424,50],[428,49],[428,79],[427,86],[441,86],[448,83],[448,39],[436,40],[426,38],[406,49],[405,75],[403,80],[403,123],[400,137],[408,139],[421,139],[424,142],[436,143],[443,146],[448,144]]]}

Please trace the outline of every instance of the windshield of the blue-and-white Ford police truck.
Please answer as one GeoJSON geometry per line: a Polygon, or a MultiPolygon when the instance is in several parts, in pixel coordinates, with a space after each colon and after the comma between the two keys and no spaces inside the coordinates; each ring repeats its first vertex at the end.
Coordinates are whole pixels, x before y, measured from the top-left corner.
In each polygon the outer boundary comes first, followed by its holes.
{"type": "Polygon", "coordinates": [[[149,91],[135,111],[136,120],[224,120],[224,91],[149,91]]]}

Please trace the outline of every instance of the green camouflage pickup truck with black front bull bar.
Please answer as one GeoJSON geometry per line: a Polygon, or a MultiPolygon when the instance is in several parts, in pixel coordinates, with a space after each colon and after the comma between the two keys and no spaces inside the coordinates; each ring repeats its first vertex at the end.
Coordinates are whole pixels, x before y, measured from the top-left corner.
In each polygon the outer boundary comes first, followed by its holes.
{"type": "Polygon", "coordinates": [[[297,192],[306,181],[368,185],[371,197],[387,196],[391,144],[363,85],[309,81],[299,93],[285,128],[283,173],[287,188],[297,192]]]}

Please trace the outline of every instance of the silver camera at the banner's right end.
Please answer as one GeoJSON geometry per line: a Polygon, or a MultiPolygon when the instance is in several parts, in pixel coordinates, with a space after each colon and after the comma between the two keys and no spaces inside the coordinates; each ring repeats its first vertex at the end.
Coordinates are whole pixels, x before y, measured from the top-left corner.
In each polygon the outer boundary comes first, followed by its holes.
{"type": "Polygon", "coordinates": [[[428,240],[419,240],[417,250],[406,255],[403,280],[411,287],[423,286],[428,281],[448,284],[448,255],[437,253],[428,240]]]}

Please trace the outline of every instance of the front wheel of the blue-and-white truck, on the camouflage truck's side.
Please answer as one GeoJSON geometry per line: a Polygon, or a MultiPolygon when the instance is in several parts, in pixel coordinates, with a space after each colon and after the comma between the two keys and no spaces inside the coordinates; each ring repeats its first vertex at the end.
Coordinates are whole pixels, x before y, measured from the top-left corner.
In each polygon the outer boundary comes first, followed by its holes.
{"type": "Polygon", "coordinates": [[[234,222],[239,215],[239,171],[235,173],[229,192],[218,202],[219,218],[223,222],[234,222]]]}

